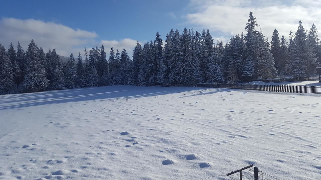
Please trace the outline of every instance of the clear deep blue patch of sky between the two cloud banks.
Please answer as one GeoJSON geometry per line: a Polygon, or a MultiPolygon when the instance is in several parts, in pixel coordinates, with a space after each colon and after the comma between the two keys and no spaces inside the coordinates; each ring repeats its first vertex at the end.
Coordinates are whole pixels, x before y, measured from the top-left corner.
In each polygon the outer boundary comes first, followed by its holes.
{"type": "Polygon", "coordinates": [[[179,25],[188,1],[4,1],[1,16],[52,21],[96,32],[102,39],[151,39],[179,25]],[[15,10],[19,9],[19,10],[15,10]]]}

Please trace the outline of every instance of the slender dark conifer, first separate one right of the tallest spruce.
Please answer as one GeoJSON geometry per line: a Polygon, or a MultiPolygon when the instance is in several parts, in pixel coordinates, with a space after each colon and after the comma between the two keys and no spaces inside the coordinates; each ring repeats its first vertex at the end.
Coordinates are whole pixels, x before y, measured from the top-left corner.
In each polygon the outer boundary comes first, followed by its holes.
{"type": "Polygon", "coordinates": [[[282,70],[283,67],[280,65],[280,56],[281,56],[281,41],[279,37],[278,30],[274,29],[273,35],[272,35],[272,41],[271,41],[271,53],[274,58],[275,64],[276,64],[276,70],[279,72],[282,70]]]}

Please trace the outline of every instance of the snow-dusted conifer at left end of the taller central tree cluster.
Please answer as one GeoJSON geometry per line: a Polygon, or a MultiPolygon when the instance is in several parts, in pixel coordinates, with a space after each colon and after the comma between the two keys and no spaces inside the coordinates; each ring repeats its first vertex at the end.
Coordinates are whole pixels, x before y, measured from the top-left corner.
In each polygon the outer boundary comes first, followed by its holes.
{"type": "Polygon", "coordinates": [[[142,64],[143,64],[143,48],[142,48],[142,45],[137,41],[136,47],[133,50],[133,63],[132,63],[133,85],[140,85],[138,83],[138,74],[142,64]]]}

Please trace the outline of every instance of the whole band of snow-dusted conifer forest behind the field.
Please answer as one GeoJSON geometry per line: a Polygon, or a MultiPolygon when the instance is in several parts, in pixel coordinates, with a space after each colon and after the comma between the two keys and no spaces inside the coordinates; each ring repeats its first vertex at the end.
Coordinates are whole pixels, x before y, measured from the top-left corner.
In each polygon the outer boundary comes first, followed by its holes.
{"type": "MultiPolygon", "coordinates": [[[[264,79],[285,75],[316,74],[321,45],[317,28],[305,29],[299,21],[288,41],[274,29],[265,38],[253,12],[245,33],[230,37],[225,45],[214,42],[209,29],[202,32],[170,29],[165,45],[160,34],[142,46],[138,41],[132,58],[125,47],[111,47],[109,57],[103,45],[84,49],[84,56],[71,54],[62,61],[55,48],[46,53],[33,40],[26,52],[18,42],[8,50],[0,44],[0,94],[70,89],[81,86],[195,86],[199,82],[231,79],[264,79]],[[280,37],[281,36],[281,37],[280,37]]],[[[287,35],[286,35],[287,36],[287,35]]]]}

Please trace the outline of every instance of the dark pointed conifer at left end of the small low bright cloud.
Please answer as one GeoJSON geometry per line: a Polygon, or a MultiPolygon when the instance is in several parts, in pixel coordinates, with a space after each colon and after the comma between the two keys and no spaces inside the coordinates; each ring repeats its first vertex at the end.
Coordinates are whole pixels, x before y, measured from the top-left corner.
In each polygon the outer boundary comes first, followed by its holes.
{"type": "Polygon", "coordinates": [[[103,45],[100,46],[100,55],[97,62],[97,73],[100,78],[101,86],[108,86],[108,61],[106,57],[105,47],[103,45]],[[103,78],[104,76],[104,78],[103,78]]]}

